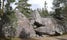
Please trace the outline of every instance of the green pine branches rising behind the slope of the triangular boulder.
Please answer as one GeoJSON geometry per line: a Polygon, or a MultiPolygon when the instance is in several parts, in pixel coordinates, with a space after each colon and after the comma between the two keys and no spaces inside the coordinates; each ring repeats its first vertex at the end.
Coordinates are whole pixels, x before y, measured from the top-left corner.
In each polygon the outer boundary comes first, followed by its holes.
{"type": "Polygon", "coordinates": [[[28,0],[19,0],[17,3],[17,8],[22,12],[26,17],[30,17],[30,4],[27,3],[28,0]]]}

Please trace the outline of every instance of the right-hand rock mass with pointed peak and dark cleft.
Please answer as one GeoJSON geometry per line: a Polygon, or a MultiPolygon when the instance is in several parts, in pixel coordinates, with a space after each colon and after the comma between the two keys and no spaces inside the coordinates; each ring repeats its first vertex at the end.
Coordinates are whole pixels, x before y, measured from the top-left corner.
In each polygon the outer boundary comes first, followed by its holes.
{"type": "Polygon", "coordinates": [[[65,32],[63,25],[58,24],[54,18],[42,18],[37,11],[33,13],[33,20],[32,24],[36,26],[35,31],[39,34],[62,35],[65,32]]]}

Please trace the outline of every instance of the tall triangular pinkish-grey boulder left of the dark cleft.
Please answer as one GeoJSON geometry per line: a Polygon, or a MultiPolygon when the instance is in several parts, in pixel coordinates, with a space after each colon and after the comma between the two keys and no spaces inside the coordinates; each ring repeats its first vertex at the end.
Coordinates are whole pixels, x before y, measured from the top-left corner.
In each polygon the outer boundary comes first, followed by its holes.
{"type": "Polygon", "coordinates": [[[21,12],[18,10],[16,11],[16,16],[17,16],[17,24],[18,27],[17,32],[16,32],[16,37],[21,37],[21,38],[29,38],[29,37],[35,37],[35,31],[33,29],[33,26],[30,24],[29,20],[23,15],[21,12]]]}

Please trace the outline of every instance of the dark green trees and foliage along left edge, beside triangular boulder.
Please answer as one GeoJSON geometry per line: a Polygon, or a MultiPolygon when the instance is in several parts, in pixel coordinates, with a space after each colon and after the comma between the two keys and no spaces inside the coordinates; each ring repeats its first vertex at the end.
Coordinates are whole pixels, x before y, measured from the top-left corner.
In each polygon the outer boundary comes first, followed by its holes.
{"type": "MultiPolygon", "coordinates": [[[[3,9],[1,9],[2,10],[1,13],[3,13],[3,15],[1,16],[1,20],[0,20],[0,23],[1,23],[1,25],[0,25],[1,31],[0,32],[5,33],[5,34],[6,34],[6,32],[8,32],[7,34],[10,34],[10,36],[14,36],[13,34],[15,34],[15,29],[16,29],[15,27],[17,26],[16,25],[17,19],[16,19],[15,12],[14,12],[14,10],[12,10],[12,7],[10,6],[10,4],[13,3],[14,1],[15,0],[7,0],[7,4],[5,4],[3,6],[3,9]],[[6,27],[6,29],[5,29],[5,27],[6,27]]],[[[4,2],[3,2],[3,4],[4,4],[4,2]]],[[[0,34],[2,34],[2,33],[0,33],[0,34]]],[[[0,37],[1,37],[1,35],[0,35],[0,37]]]]}

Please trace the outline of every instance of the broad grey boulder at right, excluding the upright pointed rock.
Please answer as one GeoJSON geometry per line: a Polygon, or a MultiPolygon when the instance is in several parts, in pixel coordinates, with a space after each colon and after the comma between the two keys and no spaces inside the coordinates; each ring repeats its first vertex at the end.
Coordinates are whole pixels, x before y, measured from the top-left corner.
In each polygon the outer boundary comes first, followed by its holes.
{"type": "Polygon", "coordinates": [[[35,30],[40,33],[45,33],[49,35],[55,34],[63,34],[65,32],[64,27],[57,23],[54,18],[42,18],[42,24],[45,26],[41,26],[36,28],[35,30]]]}

